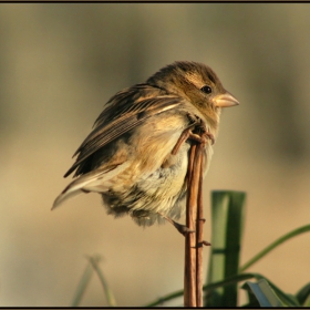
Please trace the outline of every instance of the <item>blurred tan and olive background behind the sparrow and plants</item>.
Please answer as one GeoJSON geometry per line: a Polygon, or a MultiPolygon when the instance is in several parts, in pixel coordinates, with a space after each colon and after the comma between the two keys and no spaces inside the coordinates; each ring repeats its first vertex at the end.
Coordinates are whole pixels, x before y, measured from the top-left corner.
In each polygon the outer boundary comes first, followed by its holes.
{"type": "MultiPolygon", "coordinates": [[[[248,193],[242,262],[309,224],[309,14],[308,4],[2,3],[0,306],[70,306],[94,254],[118,306],[183,288],[184,239],[170,225],[114,219],[96,194],[50,210],[104,103],[175,60],[210,65],[240,101],[223,113],[204,184],[205,239],[213,189],[248,193]]],[[[249,271],[294,293],[309,281],[309,242],[292,239],[249,271]]],[[[106,306],[96,276],[81,306],[106,306]]]]}

